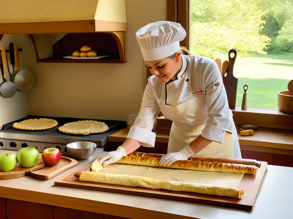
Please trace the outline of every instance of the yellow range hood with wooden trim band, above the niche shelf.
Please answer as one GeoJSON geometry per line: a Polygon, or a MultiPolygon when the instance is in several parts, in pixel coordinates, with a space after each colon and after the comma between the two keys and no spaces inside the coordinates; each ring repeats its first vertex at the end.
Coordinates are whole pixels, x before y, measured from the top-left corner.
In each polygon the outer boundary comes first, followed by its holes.
{"type": "Polygon", "coordinates": [[[9,0],[0,7],[0,34],[127,30],[125,0],[9,0]]]}

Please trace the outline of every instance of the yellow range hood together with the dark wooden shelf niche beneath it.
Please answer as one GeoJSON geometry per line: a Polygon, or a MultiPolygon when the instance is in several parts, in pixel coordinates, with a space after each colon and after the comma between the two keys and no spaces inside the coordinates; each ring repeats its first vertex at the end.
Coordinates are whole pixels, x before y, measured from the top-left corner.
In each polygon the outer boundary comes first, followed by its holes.
{"type": "Polygon", "coordinates": [[[42,3],[38,0],[10,0],[5,2],[4,8],[13,8],[14,13],[2,11],[0,40],[3,34],[30,34],[37,62],[126,62],[125,0],[78,1],[74,4],[71,0],[42,3]],[[63,58],[85,45],[93,48],[98,56],[109,56],[100,59],[63,58]]]}

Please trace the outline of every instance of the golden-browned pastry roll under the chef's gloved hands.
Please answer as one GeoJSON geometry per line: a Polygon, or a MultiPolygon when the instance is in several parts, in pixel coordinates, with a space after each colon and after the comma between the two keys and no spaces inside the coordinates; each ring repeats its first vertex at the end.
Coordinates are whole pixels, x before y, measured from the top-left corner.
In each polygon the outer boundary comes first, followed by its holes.
{"type": "Polygon", "coordinates": [[[228,173],[247,173],[254,174],[257,171],[256,166],[243,165],[243,164],[225,164],[219,162],[201,162],[191,160],[175,161],[169,166],[161,166],[159,164],[160,158],[154,157],[135,157],[126,156],[122,157],[117,163],[119,164],[134,164],[142,166],[163,167],[163,168],[176,168],[187,170],[199,170],[199,171],[212,171],[212,172],[228,172],[228,173]]]}

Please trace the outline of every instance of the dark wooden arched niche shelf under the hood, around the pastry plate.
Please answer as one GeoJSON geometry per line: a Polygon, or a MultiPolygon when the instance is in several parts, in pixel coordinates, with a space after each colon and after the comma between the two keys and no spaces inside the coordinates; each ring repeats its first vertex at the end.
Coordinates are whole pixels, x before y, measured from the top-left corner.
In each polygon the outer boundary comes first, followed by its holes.
{"type": "Polygon", "coordinates": [[[40,58],[42,48],[35,43],[35,35],[30,34],[36,53],[37,62],[64,63],[125,63],[125,32],[67,33],[52,45],[53,57],[40,58]],[[109,55],[101,59],[67,59],[82,46],[88,45],[98,55],[109,55]]]}

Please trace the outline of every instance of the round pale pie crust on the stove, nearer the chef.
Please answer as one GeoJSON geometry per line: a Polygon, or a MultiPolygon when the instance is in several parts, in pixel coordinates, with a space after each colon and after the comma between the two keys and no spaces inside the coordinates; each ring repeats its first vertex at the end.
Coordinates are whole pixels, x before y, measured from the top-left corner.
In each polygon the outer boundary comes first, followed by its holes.
{"type": "Polygon", "coordinates": [[[109,130],[109,127],[104,122],[94,120],[82,120],[77,122],[66,123],[60,126],[59,131],[74,134],[74,135],[88,135],[93,133],[103,133],[109,130]]]}

